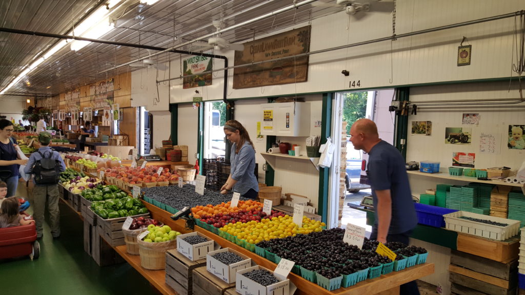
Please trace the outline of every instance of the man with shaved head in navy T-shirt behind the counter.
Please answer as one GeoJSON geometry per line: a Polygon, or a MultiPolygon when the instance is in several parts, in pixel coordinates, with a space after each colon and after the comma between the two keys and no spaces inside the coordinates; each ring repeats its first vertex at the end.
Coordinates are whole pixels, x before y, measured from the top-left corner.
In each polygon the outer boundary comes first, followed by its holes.
{"type": "MultiPolygon", "coordinates": [[[[412,201],[405,159],[390,143],[379,138],[374,121],[360,119],[350,128],[355,150],[369,154],[366,174],[372,187],[375,223],[370,239],[408,245],[417,216],[412,201]]],[[[415,281],[401,285],[400,294],[419,294],[415,281]]]]}

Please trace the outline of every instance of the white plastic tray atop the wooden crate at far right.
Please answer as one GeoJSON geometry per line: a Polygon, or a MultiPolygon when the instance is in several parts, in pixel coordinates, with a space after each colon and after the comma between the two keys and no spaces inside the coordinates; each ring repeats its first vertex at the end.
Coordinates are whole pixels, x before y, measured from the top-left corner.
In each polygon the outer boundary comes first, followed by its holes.
{"type": "Polygon", "coordinates": [[[516,236],[520,230],[520,222],[507,218],[476,214],[465,211],[458,211],[443,215],[446,228],[493,240],[506,240],[516,236]],[[472,220],[460,218],[461,216],[490,220],[492,222],[505,223],[507,226],[496,226],[485,223],[474,222],[472,220]]]}

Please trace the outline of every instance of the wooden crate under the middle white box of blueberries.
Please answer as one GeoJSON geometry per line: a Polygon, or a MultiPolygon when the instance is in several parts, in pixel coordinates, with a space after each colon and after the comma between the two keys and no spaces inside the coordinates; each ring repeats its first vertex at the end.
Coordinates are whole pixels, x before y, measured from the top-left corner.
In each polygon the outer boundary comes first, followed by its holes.
{"type": "Polygon", "coordinates": [[[205,266],[193,270],[194,295],[224,295],[226,290],[232,288],[235,291],[235,282],[225,283],[207,271],[205,266]]]}

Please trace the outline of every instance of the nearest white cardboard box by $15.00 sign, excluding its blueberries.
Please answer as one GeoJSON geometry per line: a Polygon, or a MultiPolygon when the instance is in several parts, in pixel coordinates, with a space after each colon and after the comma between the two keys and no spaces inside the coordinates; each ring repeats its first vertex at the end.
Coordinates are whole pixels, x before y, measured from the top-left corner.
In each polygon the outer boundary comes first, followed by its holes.
{"type": "Polygon", "coordinates": [[[254,269],[266,269],[270,273],[274,273],[273,271],[258,265],[237,271],[237,279],[235,281],[235,291],[237,291],[237,293],[240,293],[241,295],[290,295],[290,280],[288,279],[281,280],[278,283],[265,287],[260,285],[260,283],[243,276],[243,273],[250,272],[254,269]]]}

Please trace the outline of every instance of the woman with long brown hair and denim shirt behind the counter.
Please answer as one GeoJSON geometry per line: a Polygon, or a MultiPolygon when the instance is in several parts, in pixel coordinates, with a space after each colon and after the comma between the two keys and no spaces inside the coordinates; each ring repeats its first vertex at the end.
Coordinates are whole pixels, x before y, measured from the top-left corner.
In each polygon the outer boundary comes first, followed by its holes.
{"type": "Polygon", "coordinates": [[[232,143],[230,155],[231,171],[226,183],[220,188],[221,194],[230,191],[240,193],[240,196],[255,199],[259,192],[259,184],[255,177],[255,149],[248,131],[235,120],[224,124],[226,139],[232,143]]]}

